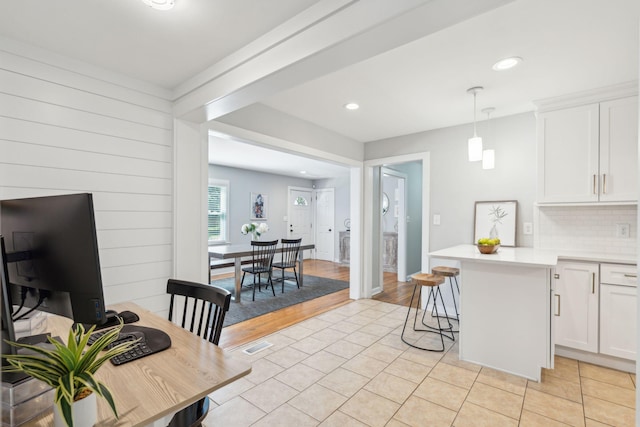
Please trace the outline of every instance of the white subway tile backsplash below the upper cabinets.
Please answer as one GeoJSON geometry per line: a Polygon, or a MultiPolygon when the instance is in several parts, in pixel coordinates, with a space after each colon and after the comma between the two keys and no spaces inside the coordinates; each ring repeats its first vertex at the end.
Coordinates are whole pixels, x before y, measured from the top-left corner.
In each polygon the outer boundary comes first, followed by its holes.
{"type": "Polygon", "coordinates": [[[538,206],[534,246],[540,249],[635,255],[637,206],[538,206]],[[629,237],[617,237],[628,224],[629,237]]]}

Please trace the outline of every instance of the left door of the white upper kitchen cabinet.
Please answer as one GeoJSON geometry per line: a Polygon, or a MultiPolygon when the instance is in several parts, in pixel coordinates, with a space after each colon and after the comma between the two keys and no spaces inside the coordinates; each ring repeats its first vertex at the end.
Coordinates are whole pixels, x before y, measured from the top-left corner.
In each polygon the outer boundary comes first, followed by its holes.
{"type": "Polygon", "coordinates": [[[538,115],[538,201],[597,202],[598,104],[538,115]]]}

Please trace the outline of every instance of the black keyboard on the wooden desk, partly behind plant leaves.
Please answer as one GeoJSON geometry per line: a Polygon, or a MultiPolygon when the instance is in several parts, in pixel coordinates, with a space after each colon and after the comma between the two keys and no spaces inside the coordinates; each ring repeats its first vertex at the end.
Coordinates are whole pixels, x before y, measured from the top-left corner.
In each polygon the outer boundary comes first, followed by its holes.
{"type": "MultiPolygon", "coordinates": [[[[92,333],[89,337],[89,345],[93,344],[108,331],[107,329],[92,333]]],[[[132,362],[171,347],[171,337],[164,331],[144,326],[124,325],[120,330],[118,339],[115,340],[109,348],[123,342],[135,340],[139,340],[137,346],[125,353],[112,357],[111,363],[114,365],[122,365],[123,363],[132,362]]]]}

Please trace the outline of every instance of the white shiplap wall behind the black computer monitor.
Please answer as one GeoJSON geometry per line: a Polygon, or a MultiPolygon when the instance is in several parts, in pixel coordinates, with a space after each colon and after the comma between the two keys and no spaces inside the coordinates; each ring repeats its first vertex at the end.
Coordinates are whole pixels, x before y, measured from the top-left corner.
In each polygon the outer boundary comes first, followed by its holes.
{"type": "Polygon", "coordinates": [[[157,313],[173,265],[165,95],[0,40],[0,199],[93,193],[106,304],[157,313]]]}

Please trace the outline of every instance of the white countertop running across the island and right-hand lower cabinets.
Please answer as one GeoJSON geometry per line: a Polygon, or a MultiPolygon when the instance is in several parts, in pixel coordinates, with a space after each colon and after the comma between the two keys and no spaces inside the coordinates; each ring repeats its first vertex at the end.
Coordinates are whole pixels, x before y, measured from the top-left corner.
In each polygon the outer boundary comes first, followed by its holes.
{"type": "Polygon", "coordinates": [[[475,245],[458,245],[430,252],[431,258],[455,259],[461,261],[479,261],[493,263],[511,263],[528,266],[553,267],[558,260],[590,262],[610,262],[617,264],[636,264],[637,257],[624,254],[605,254],[601,252],[581,252],[535,248],[513,248],[501,246],[498,252],[481,254],[475,245]]]}

